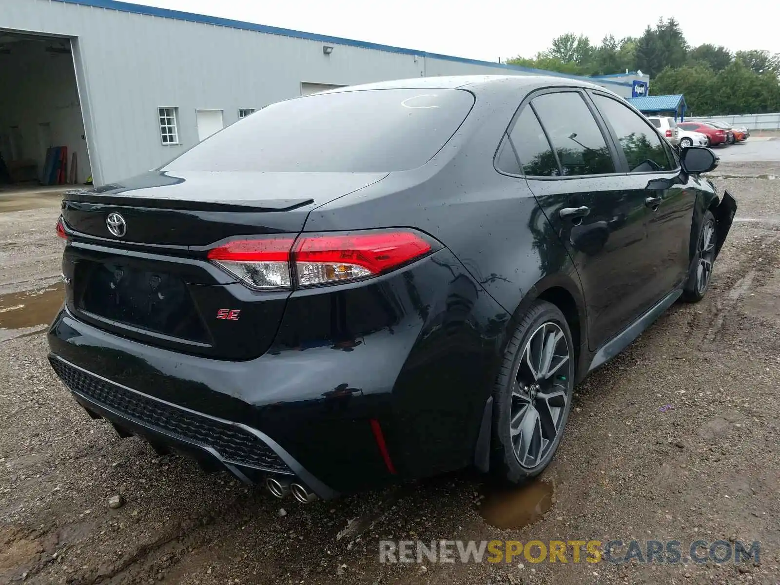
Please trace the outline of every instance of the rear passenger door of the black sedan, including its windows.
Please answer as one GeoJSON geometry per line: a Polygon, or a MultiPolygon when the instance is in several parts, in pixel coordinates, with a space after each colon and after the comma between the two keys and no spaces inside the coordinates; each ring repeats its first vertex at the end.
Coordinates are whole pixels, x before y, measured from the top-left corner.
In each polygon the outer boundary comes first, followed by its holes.
{"type": "Polygon", "coordinates": [[[587,302],[590,347],[625,327],[643,302],[647,207],[627,191],[615,145],[580,90],[548,90],[510,133],[530,190],[569,251],[587,302]]]}

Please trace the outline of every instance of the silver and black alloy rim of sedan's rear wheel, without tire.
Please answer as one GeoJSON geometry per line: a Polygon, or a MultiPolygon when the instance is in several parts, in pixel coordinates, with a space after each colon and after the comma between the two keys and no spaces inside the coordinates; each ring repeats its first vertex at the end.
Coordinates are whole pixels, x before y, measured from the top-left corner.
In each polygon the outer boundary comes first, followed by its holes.
{"type": "Polygon", "coordinates": [[[520,357],[509,427],[517,460],[531,469],[548,456],[563,431],[572,352],[560,326],[548,321],[530,335],[520,357]]]}

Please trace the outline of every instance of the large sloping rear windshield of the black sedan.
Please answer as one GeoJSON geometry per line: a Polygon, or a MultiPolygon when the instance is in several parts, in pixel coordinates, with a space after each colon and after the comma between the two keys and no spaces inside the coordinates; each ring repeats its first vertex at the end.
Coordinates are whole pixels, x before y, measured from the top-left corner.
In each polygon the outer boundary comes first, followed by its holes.
{"type": "Polygon", "coordinates": [[[429,161],[473,106],[463,90],[356,90],[269,105],[166,171],[392,172],[429,161]]]}

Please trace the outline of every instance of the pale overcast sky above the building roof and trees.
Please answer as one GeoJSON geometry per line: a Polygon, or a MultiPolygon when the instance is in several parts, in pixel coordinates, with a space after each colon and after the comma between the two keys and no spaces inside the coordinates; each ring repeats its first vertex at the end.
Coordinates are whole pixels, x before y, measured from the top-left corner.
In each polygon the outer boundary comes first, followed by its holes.
{"type": "MultiPolygon", "coordinates": [[[[132,1],[132,0],[131,0],[132,1]]],[[[485,61],[531,57],[560,34],[639,36],[674,16],[692,45],[780,52],[780,5],[772,0],[137,0],[139,4],[223,16],[485,61]]]]}

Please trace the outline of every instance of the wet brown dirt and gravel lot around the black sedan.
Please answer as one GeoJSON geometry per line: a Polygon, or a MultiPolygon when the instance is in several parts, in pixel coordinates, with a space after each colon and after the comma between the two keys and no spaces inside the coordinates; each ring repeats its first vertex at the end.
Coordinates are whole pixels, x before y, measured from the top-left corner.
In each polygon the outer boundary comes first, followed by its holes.
{"type": "Polygon", "coordinates": [[[155,456],[76,406],[41,333],[60,294],[56,194],[0,195],[0,583],[780,582],[780,179],[742,178],[778,166],[714,172],[739,212],[707,298],[577,388],[544,484],[493,495],[458,473],[308,506],[155,456]],[[480,514],[547,505],[519,529],[480,514]],[[383,565],[382,538],[731,539],[761,541],[761,563],[383,565]]]}

